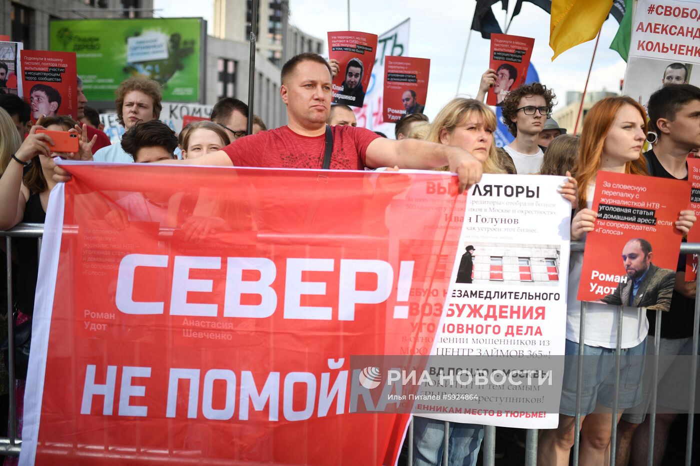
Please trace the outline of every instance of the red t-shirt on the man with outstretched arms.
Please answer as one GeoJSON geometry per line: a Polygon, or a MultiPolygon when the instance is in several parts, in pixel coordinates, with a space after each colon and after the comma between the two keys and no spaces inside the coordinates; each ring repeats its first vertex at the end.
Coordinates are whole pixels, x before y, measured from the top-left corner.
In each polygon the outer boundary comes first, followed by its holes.
{"type": "MultiPolygon", "coordinates": [[[[330,169],[363,170],[365,152],[381,136],[369,129],[333,126],[330,169]]],[[[288,126],[261,131],[233,141],[222,149],[237,167],[323,168],[325,134],[300,136],[288,126]]]]}

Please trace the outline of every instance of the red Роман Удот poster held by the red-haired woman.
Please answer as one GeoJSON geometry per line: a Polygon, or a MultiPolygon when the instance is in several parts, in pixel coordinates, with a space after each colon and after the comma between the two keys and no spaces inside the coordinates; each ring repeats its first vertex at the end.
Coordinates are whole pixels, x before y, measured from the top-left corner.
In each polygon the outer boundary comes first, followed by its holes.
{"type": "Polygon", "coordinates": [[[668,311],[689,196],[685,181],[598,171],[577,299],[668,311]]]}

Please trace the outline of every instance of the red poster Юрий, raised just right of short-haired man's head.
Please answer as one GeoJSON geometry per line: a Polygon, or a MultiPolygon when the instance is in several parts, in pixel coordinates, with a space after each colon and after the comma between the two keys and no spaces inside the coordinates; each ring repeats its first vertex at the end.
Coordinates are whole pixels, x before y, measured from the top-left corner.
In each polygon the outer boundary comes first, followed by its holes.
{"type": "Polygon", "coordinates": [[[328,33],[328,57],[339,62],[333,79],[333,104],[361,107],[370,85],[377,34],[356,31],[328,33]]]}

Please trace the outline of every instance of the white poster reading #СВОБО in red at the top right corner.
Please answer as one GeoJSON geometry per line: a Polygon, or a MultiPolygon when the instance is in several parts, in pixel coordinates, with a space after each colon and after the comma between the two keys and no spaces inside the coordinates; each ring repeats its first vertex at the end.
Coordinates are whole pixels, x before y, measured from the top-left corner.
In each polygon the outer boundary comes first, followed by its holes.
{"type": "Polygon", "coordinates": [[[646,105],[667,84],[700,85],[700,4],[639,0],[622,93],[646,105]]]}

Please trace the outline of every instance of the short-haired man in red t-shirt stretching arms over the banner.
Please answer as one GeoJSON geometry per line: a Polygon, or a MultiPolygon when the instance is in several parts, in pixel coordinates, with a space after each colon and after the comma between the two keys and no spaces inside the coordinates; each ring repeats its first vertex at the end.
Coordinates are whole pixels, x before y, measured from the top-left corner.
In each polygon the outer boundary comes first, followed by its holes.
{"type": "MultiPolygon", "coordinates": [[[[320,169],[332,99],[330,65],[321,55],[302,53],[290,59],[281,74],[280,95],[287,106],[287,126],[237,139],[202,157],[162,163],[320,169]]],[[[331,130],[331,169],[433,169],[448,165],[459,176],[460,191],[478,183],[482,176],[482,163],[458,147],[418,139],[393,141],[351,126],[334,126],[331,130]]],[[[54,179],[66,181],[69,176],[56,167],[54,179]]]]}

